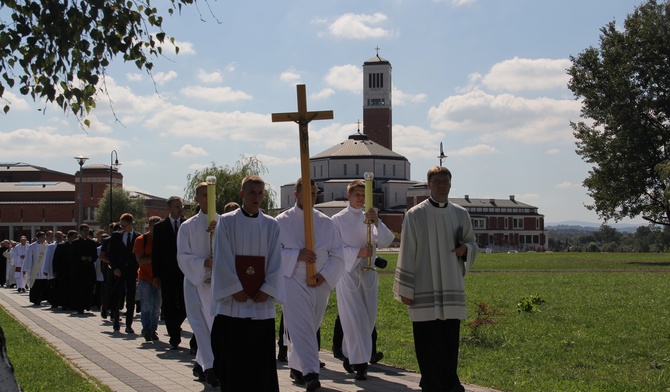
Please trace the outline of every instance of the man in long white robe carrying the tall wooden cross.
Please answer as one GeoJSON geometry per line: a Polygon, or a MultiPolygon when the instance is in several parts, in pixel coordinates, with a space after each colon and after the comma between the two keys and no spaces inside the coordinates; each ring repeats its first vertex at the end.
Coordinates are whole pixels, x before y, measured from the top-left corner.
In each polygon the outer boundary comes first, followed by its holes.
{"type": "MultiPolygon", "coordinates": [[[[313,181],[307,191],[310,189],[313,204],[316,200],[313,181]]],[[[314,251],[305,249],[302,192],[302,179],[299,179],[293,193],[296,205],[281,213],[277,222],[281,228],[279,242],[286,278],[286,303],[282,309],[289,342],[288,364],[291,378],[313,391],[321,386],[316,331],[326,313],[330,292],[342,275],[344,262],[340,233],[328,216],[315,209],[312,210],[314,251]],[[316,285],[313,287],[307,284],[307,263],[316,263],[316,285]]]]}

